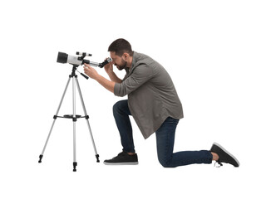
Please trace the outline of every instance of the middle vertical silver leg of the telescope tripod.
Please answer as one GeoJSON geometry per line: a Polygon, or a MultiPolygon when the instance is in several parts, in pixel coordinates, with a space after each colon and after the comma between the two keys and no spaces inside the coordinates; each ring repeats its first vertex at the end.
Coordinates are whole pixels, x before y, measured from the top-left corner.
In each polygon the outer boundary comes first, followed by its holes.
{"type": "Polygon", "coordinates": [[[73,172],[76,172],[76,76],[73,77],[73,172]]]}

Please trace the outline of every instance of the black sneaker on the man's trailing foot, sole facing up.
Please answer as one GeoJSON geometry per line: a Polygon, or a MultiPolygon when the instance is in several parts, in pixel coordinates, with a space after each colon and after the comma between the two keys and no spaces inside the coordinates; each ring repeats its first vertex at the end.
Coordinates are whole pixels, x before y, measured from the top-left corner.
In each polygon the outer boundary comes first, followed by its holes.
{"type": "Polygon", "coordinates": [[[234,167],[239,167],[239,161],[237,158],[220,146],[219,143],[213,143],[212,148],[210,148],[210,152],[217,153],[219,155],[219,160],[216,162],[219,163],[220,166],[223,166],[222,163],[229,163],[234,167]]]}

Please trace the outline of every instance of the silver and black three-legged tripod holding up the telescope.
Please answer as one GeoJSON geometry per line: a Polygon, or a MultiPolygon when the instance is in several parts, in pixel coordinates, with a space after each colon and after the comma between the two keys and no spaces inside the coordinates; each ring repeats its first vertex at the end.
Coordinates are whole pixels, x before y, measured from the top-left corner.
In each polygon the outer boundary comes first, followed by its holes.
{"type": "MultiPolygon", "coordinates": [[[[53,126],[56,122],[56,119],[57,118],[72,119],[73,120],[73,172],[76,172],[76,166],[77,166],[77,163],[76,163],[76,120],[77,119],[80,119],[80,118],[85,118],[86,119],[88,129],[89,129],[89,132],[91,134],[91,142],[92,142],[95,154],[96,154],[96,162],[100,163],[100,160],[99,160],[100,156],[98,155],[98,153],[96,151],[96,146],[95,146],[94,139],[93,139],[93,136],[92,136],[92,133],[91,133],[91,126],[89,124],[89,115],[87,115],[87,113],[86,113],[86,106],[85,106],[83,98],[81,96],[81,89],[80,89],[80,86],[79,86],[79,83],[78,83],[78,80],[77,80],[77,75],[76,75],[76,68],[77,67],[78,67],[77,65],[73,65],[72,73],[71,73],[71,75],[69,75],[69,79],[67,80],[66,88],[65,88],[64,93],[62,95],[61,102],[58,106],[57,113],[53,116],[52,127],[51,127],[50,132],[47,136],[47,141],[46,141],[46,143],[45,143],[45,145],[42,149],[42,153],[40,154],[39,161],[38,161],[38,163],[42,163],[43,153],[45,152],[45,150],[47,148],[47,143],[48,143],[49,138],[51,136],[52,129],[53,129],[53,126]],[[63,99],[66,95],[66,90],[67,90],[67,87],[68,87],[71,79],[72,79],[72,92],[73,92],[73,99],[72,99],[73,100],[73,114],[66,114],[63,117],[58,116],[59,110],[61,109],[61,106],[62,106],[62,101],[63,101],[63,99]],[[80,95],[81,104],[82,104],[82,108],[84,110],[85,116],[81,116],[81,115],[76,114],[76,87],[77,87],[78,93],[80,95]]],[[[81,75],[83,75],[83,74],[81,74],[81,75]]],[[[86,77],[86,79],[88,79],[88,77],[86,75],[83,75],[83,76],[86,77]]]]}

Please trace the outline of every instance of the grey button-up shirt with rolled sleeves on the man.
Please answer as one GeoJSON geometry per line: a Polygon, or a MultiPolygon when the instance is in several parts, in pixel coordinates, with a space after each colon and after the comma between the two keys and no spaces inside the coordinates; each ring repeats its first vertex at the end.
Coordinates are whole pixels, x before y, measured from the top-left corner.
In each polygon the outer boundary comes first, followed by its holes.
{"type": "Polygon", "coordinates": [[[183,109],[175,85],[165,68],[149,56],[134,52],[132,66],[126,70],[114,94],[128,95],[130,113],[144,138],[155,133],[166,118],[183,118],[183,109]]]}

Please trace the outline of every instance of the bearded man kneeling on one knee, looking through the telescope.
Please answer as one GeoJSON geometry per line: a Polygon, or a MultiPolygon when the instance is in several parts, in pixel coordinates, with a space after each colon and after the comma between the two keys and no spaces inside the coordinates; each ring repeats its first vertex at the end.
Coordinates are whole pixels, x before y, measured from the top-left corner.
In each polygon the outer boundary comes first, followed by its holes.
{"type": "Polygon", "coordinates": [[[183,109],[170,75],[149,56],[132,51],[125,39],[117,39],[109,46],[112,61],[105,66],[111,80],[106,80],[91,66],[84,66],[86,75],[98,81],[117,96],[128,95],[113,107],[116,125],[121,136],[123,151],[105,164],[138,164],[132,137],[129,115],[132,115],[144,138],[156,135],[157,154],[163,167],[178,167],[193,163],[212,163],[213,160],[233,164],[239,162],[219,144],[214,143],[210,151],[184,151],[173,153],[175,129],[183,118],[183,109]],[[123,80],[116,76],[118,70],[126,70],[123,80]]]}

